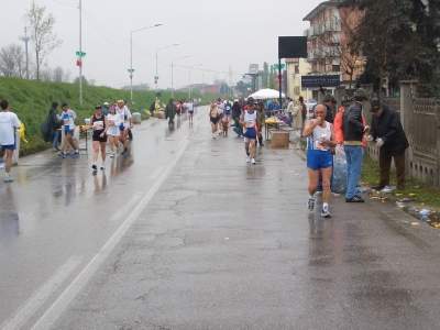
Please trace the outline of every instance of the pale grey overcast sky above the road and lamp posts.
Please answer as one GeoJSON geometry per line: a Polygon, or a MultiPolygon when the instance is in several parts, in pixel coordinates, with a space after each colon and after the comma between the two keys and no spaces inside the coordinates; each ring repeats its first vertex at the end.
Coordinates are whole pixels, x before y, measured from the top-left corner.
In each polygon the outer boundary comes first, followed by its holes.
{"type": "MultiPolygon", "coordinates": [[[[31,0],[2,0],[0,47],[22,44],[23,15],[31,0]]],[[[54,32],[63,40],[48,57],[48,66],[70,69],[78,76],[75,52],[79,50],[79,0],[35,0],[56,18],[54,32]]],[[[231,67],[232,81],[241,80],[249,65],[277,63],[278,36],[302,35],[309,22],[302,19],[321,0],[82,0],[82,74],[97,85],[120,88],[130,85],[131,31],[162,23],[162,26],[133,32],[133,85],[154,88],[157,51],[158,88],[229,80],[222,72],[231,67]],[[197,66],[202,63],[201,66],[197,66]],[[185,67],[184,67],[185,66],[185,67]],[[191,69],[189,66],[197,66],[191,69]],[[200,68],[200,69],[198,69],[200,68]]],[[[30,46],[30,57],[33,57],[30,46]]]]}

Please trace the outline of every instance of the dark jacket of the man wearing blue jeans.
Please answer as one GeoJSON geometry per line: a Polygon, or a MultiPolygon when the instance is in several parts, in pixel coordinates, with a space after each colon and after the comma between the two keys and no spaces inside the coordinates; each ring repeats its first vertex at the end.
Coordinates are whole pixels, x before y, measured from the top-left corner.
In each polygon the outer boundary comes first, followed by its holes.
{"type": "Polygon", "coordinates": [[[362,124],[362,105],[353,101],[342,114],[344,145],[361,145],[365,127],[362,124]]]}

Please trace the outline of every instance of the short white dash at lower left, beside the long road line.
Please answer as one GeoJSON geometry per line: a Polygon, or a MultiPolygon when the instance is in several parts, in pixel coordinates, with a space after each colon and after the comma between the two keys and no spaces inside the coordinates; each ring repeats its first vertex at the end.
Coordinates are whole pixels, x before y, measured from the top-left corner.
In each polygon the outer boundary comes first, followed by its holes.
{"type": "Polygon", "coordinates": [[[46,301],[46,299],[59,288],[75,268],[81,263],[81,256],[72,256],[63,266],[58,268],[52,278],[44,284],[35,294],[23,304],[15,316],[4,323],[1,329],[12,330],[23,327],[34,312],[46,301]]]}

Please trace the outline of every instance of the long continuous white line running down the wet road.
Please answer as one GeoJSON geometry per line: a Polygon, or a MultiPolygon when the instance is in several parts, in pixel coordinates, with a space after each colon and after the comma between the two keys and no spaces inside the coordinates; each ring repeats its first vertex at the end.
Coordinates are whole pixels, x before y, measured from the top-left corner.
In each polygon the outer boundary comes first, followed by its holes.
{"type": "MultiPolygon", "coordinates": [[[[198,127],[199,121],[196,124],[198,127]]],[[[40,320],[32,327],[32,330],[45,330],[50,329],[51,326],[57,320],[61,314],[67,308],[67,306],[74,300],[76,295],[81,290],[81,288],[87,284],[90,277],[98,271],[102,262],[110,255],[114,246],[119,243],[125,232],[130,229],[133,222],[138,219],[141,212],[148,205],[150,200],[154,197],[158,188],[173,172],[177,162],[180,160],[184,151],[186,150],[189,140],[184,140],[180,150],[176,154],[173,162],[166,167],[157,182],[148,190],[148,193],[142,198],[140,204],[134,208],[134,210],[127,217],[125,221],[121,227],[114,232],[114,234],[107,241],[102,249],[94,256],[94,258],[88,263],[88,265],[79,273],[79,275],[72,282],[72,284],[66,288],[66,290],[58,297],[58,299],[46,310],[46,312],[40,318],[40,320]]]]}

